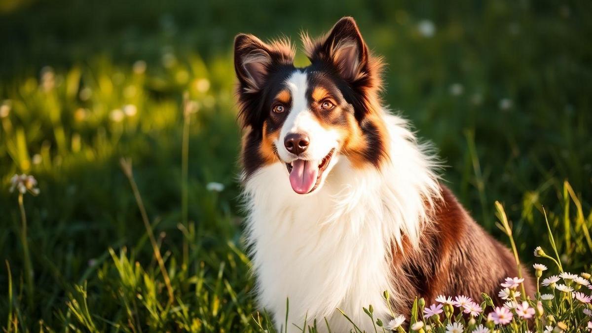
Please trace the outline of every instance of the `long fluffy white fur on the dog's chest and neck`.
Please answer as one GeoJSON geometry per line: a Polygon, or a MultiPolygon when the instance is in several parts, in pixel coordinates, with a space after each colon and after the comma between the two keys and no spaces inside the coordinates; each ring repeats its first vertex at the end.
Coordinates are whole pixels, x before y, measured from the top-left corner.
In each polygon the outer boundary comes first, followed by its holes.
{"type": "MultiPolygon", "coordinates": [[[[391,242],[401,235],[419,236],[426,218],[425,200],[437,193],[434,162],[403,120],[386,116],[391,162],[380,170],[353,168],[338,158],[322,188],[310,196],[294,193],[284,164],[259,169],[245,183],[247,239],[257,277],[261,306],[278,328],[289,299],[288,332],[314,319],[324,331],[327,318],[333,332],[351,325],[374,331],[362,306],[372,304],[375,317],[388,321],[382,299],[391,290],[391,242]]],[[[396,296],[395,296],[396,297],[396,296]]]]}

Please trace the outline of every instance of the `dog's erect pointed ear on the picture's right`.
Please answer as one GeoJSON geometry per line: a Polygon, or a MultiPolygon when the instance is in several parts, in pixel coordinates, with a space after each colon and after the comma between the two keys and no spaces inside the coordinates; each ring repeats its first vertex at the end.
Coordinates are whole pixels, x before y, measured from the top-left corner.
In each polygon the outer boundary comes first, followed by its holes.
{"type": "Polygon", "coordinates": [[[311,61],[322,59],[333,63],[346,81],[356,81],[367,74],[368,47],[356,21],[351,17],[337,21],[331,31],[318,41],[303,36],[303,43],[311,61]]]}

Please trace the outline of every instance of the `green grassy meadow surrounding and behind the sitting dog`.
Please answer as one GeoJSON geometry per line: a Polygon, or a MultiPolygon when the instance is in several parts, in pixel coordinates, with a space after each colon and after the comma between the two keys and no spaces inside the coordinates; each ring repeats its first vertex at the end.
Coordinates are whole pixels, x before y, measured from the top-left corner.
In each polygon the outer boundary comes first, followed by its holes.
{"type": "Polygon", "coordinates": [[[259,331],[237,199],[231,44],[239,31],[319,34],[342,15],[386,57],[385,102],[439,148],[472,215],[507,242],[495,226],[501,201],[517,252],[532,263],[536,246],[551,253],[544,207],[563,268],[590,272],[591,9],[588,1],[0,2],[0,100],[10,105],[0,119],[0,326],[259,331]],[[435,24],[432,37],[418,31],[424,19],[435,24]],[[186,117],[185,92],[197,103],[186,117]],[[126,105],[136,114],[117,121],[114,110],[126,105]],[[122,157],[133,161],[150,229],[122,157]],[[30,260],[18,196],[8,192],[15,173],[34,175],[41,191],[24,197],[30,260]],[[213,181],[224,190],[208,191],[213,181]]]}

